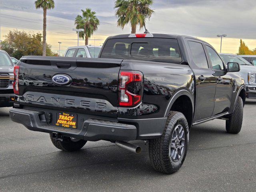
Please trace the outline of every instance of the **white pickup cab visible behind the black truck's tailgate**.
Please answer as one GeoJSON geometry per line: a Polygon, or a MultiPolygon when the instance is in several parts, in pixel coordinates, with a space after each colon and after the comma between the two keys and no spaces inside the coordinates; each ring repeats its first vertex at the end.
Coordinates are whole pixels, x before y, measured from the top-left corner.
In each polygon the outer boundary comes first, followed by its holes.
{"type": "Polygon", "coordinates": [[[69,47],[64,56],[65,57],[84,57],[84,58],[98,58],[102,46],[84,45],[69,47]]]}

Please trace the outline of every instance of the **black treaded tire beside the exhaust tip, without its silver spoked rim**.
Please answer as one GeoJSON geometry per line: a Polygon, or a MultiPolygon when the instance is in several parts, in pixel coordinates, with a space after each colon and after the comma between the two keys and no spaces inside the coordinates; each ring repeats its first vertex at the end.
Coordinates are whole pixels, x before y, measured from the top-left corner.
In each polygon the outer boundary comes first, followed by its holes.
{"type": "Polygon", "coordinates": [[[189,127],[185,116],[180,112],[170,111],[162,136],[149,142],[150,163],[156,171],[172,174],[180,169],[188,150],[188,135],[189,127]],[[184,128],[184,149],[180,159],[175,161],[169,152],[169,145],[172,143],[172,136],[179,125],[184,128]]]}

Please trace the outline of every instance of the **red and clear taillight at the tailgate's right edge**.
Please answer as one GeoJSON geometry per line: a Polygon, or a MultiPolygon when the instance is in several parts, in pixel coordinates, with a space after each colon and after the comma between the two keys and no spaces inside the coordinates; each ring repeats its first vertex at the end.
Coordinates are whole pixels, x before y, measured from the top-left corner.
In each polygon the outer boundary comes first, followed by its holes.
{"type": "Polygon", "coordinates": [[[143,74],[139,71],[121,71],[119,73],[119,106],[134,107],[142,101],[143,74]]]}

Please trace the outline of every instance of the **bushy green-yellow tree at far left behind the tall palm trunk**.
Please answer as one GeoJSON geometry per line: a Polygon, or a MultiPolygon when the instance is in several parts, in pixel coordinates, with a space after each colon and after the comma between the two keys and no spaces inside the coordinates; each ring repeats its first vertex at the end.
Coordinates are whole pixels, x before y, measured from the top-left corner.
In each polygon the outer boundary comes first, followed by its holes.
{"type": "MultiPolygon", "coordinates": [[[[20,59],[24,55],[42,55],[42,34],[26,33],[24,31],[9,31],[1,43],[1,49],[5,50],[10,56],[20,59]]],[[[46,55],[54,56],[51,45],[46,44],[46,55]]]]}

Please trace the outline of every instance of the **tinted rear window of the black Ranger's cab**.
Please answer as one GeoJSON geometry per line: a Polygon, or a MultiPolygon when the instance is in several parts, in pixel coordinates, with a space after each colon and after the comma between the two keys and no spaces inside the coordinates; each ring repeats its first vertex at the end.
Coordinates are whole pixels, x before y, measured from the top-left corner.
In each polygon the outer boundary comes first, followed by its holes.
{"type": "Polygon", "coordinates": [[[178,41],[168,38],[109,39],[100,57],[153,62],[182,61],[178,41]]]}

